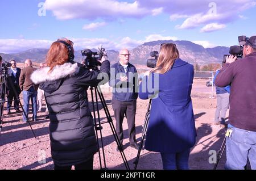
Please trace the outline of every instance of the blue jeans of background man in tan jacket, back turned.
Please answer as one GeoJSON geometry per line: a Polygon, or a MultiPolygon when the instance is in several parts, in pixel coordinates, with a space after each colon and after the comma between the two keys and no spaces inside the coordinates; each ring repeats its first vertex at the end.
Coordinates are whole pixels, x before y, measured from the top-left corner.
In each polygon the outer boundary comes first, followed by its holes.
{"type": "MultiPolygon", "coordinates": [[[[37,111],[37,106],[36,106],[36,96],[37,96],[37,91],[35,91],[34,87],[31,86],[30,89],[28,89],[27,91],[23,90],[23,104],[24,104],[24,111],[26,112],[26,115],[28,116],[28,107],[29,107],[29,102],[30,99],[32,101],[32,113],[33,113],[33,117],[32,119],[34,121],[36,121],[36,111],[37,111]]],[[[23,113],[23,121],[28,121],[26,116],[23,113]]]]}

